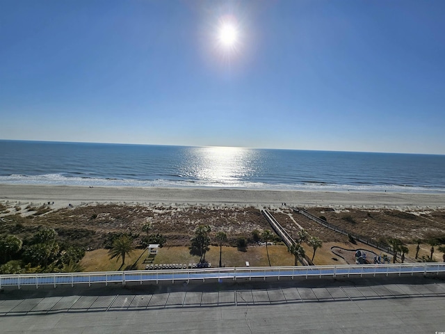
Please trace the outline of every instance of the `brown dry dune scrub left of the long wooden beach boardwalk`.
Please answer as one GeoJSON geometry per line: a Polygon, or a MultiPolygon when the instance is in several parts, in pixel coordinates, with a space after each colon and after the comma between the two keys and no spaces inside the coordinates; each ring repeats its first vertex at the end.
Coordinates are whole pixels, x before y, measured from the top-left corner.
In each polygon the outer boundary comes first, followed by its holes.
{"type": "Polygon", "coordinates": [[[165,246],[188,246],[199,225],[210,225],[211,236],[218,231],[226,232],[228,243],[233,246],[238,237],[248,239],[252,230],[270,228],[259,209],[224,205],[81,205],[38,215],[13,214],[4,216],[3,220],[0,233],[17,234],[18,226],[19,237],[24,239],[31,236],[36,227],[47,226],[54,228],[62,241],[88,249],[102,248],[108,235],[113,233],[131,233],[140,239],[145,235],[142,227],[147,222],[152,223],[150,234],[165,236],[165,246]]]}

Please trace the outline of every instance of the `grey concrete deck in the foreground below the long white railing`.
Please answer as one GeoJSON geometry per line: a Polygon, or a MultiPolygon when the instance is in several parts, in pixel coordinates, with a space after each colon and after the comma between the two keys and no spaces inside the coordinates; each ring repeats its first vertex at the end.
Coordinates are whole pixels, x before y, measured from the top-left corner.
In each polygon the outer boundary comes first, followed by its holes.
{"type": "Polygon", "coordinates": [[[435,333],[445,281],[311,279],[0,294],[1,333],[435,333]]]}

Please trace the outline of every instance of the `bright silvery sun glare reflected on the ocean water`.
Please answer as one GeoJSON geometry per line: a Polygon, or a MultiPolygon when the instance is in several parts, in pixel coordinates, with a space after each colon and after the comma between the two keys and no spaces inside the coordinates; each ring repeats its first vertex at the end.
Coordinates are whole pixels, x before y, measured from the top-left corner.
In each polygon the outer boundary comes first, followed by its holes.
{"type": "Polygon", "coordinates": [[[254,150],[247,148],[191,148],[186,177],[215,186],[241,186],[241,180],[252,174],[254,150]]]}

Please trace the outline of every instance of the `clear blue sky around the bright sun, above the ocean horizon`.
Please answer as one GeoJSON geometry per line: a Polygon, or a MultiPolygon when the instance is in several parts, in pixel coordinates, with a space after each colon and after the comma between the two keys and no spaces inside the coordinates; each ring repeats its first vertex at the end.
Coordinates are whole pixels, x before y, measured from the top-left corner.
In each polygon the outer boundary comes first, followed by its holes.
{"type": "Polygon", "coordinates": [[[1,1],[0,138],[445,154],[445,1],[1,1]],[[238,32],[218,44],[221,22],[238,32]]]}

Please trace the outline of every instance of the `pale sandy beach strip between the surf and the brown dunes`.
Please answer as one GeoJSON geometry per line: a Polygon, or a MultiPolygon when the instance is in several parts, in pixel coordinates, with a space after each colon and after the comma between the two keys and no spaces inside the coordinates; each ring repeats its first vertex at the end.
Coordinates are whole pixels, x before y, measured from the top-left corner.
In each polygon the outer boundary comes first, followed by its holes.
{"type": "Polygon", "coordinates": [[[445,208],[445,193],[289,191],[228,188],[158,188],[0,184],[0,202],[54,202],[56,207],[89,202],[159,204],[286,205],[302,207],[445,208]]]}

